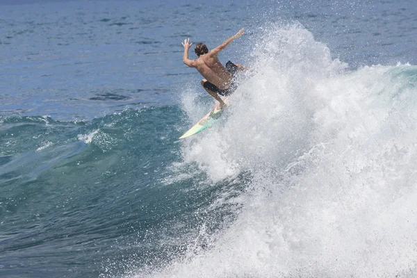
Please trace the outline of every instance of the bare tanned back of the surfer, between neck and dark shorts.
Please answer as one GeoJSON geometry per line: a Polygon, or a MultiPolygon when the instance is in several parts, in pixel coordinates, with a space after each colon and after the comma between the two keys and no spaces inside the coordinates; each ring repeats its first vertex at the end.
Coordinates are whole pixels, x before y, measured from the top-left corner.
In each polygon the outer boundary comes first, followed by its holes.
{"type": "Polygon", "coordinates": [[[221,90],[229,88],[231,74],[223,67],[217,56],[212,58],[209,54],[204,54],[199,56],[195,62],[198,72],[208,82],[213,83],[221,90]]]}

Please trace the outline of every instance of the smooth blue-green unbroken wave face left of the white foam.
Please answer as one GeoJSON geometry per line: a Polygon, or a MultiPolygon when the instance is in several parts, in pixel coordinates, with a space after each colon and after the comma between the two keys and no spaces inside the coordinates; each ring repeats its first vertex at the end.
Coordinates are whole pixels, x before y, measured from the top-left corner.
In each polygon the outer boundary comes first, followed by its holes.
{"type": "Polygon", "coordinates": [[[177,202],[194,197],[160,186],[178,159],[169,135],[179,115],[161,107],[91,122],[0,117],[0,276],[98,277],[123,271],[136,242],[149,257],[162,252],[156,242],[177,202]]]}

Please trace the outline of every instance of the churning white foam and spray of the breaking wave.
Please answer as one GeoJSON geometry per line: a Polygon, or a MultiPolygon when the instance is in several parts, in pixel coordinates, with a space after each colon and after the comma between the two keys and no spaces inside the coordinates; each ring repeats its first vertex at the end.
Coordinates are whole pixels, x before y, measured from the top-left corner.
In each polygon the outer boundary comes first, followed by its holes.
{"type": "Polygon", "coordinates": [[[211,181],[250,173],[236,219],[133,276],[415,277],[417,67],[348,70],[299,24],[254,41],[227,116],[181,149],[211,181]]]}

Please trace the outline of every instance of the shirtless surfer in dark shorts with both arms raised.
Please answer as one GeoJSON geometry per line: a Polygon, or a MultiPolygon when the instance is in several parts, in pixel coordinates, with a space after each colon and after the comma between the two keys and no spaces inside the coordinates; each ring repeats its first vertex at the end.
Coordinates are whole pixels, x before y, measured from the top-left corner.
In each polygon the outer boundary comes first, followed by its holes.
{"type": "Polygon", "coordinates": [[[188,49],[193,45],[193,42],[190,43],[190,39],[186,39],[182,42],[184,47],[184,64],[188,65],[188,67],[195,67],[197,71],[202,74],[204,77],[202,80],[204,90],[220,102],[220,108],[223,108],[226,104],[219,95],[228,96],[236,90],[236,85],[234,85],[232,80],[233,74],[238,70],[245,70],[245,67],[239,64],[235,65],[230,61],[226,63],[226,67],[223,67],[218,59],[218,54],[235,39],[244,35],[244,29],[245,28],[240,29],[236,35],[228,38],[211,51],[208,51],[206,44],[199,42],[195,46],[195,54],[198,56],[196,60],[188,59],[188,49]]]}

